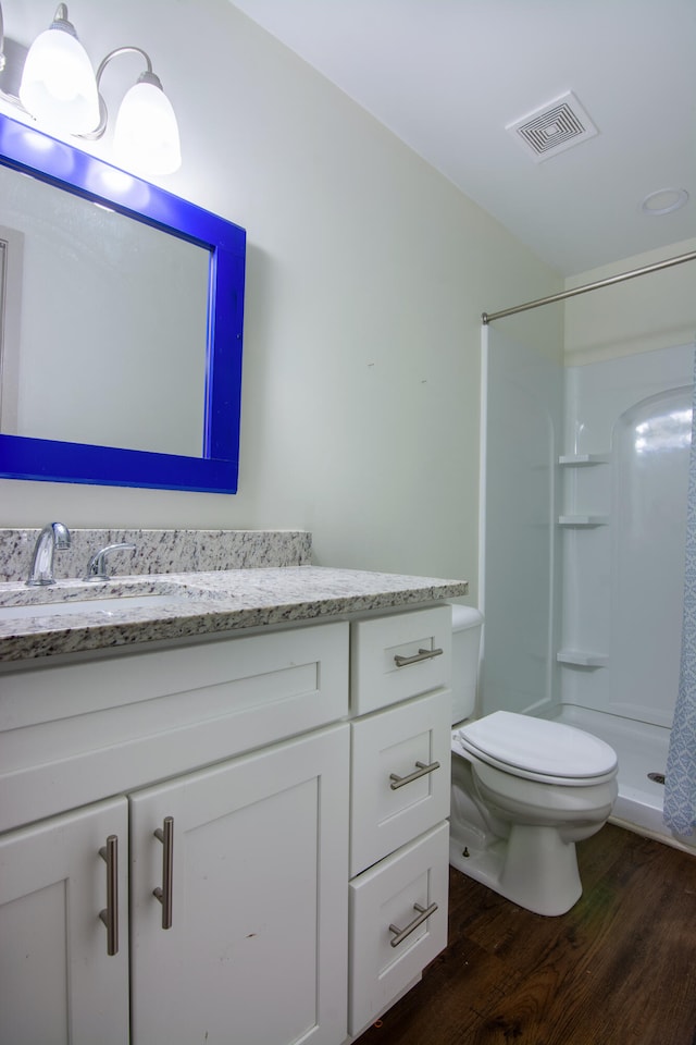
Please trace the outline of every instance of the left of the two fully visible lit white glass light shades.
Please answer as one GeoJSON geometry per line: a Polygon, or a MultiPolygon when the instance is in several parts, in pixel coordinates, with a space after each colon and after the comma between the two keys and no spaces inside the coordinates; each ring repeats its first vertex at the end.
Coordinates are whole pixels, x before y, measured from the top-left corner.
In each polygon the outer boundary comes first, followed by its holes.
{"type": "Polygon", "coordinates": [[[99,123],[97,79],[79,40],[61,28],[35,39],[24,63],[20,101],[48,128],[88,134],[99,123]]]}

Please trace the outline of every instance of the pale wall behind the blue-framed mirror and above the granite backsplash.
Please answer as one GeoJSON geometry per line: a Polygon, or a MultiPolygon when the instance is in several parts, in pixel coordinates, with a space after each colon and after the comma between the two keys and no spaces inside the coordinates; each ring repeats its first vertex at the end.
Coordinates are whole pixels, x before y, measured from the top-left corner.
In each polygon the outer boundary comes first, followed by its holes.
{"type": "MultiPolygon", "coordinates": [[[[5,34],[38,7],[4,0],[5,34]]],[[[469,578],[475,601],[480,316],[560,280],[227,0],[70,15],[95,61],[151,53],[184,153],[161,184],[248,231],[239,493],[3,480],[0,525],[304,528],[320,564],[469,578]]]]}

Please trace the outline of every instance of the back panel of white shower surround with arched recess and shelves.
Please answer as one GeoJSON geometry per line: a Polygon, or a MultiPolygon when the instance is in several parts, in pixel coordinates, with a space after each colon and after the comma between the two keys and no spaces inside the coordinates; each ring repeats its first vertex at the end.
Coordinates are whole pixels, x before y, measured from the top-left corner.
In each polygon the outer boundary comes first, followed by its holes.
{"type": "Polygon", "coordinates": [[[659,775],[679,691],[693,360],[692,344],[569,367],[560,466],[557,713],[617,749],[614,819],[668,840],[659,775]]]}

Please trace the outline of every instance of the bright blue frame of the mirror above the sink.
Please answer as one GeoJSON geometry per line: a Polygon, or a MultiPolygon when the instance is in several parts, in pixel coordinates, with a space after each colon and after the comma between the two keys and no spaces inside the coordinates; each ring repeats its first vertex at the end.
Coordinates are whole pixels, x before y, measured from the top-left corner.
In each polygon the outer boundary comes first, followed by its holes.
{"type": "Polygon", "coordinates": [[[0,163],[210,253],[201,456],[0,434],[0,477],[236,493],[239,470],[246,232],[0,113],[0,163]]]}

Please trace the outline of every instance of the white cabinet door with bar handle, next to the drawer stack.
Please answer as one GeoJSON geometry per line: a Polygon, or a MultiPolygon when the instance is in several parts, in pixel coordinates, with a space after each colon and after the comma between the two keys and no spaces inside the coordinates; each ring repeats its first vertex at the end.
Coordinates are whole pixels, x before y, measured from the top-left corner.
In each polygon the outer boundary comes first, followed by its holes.
{"type": "Polygon", "coordinates": [[[344,1040],[348,739],[335,726],[132,796],[134,1045],[344,1040]],[[152,895],[165,817],[170,929],[152,895]]]}

